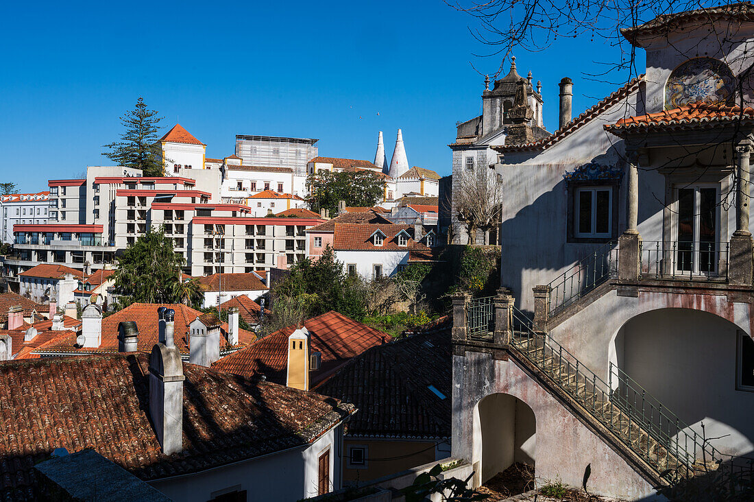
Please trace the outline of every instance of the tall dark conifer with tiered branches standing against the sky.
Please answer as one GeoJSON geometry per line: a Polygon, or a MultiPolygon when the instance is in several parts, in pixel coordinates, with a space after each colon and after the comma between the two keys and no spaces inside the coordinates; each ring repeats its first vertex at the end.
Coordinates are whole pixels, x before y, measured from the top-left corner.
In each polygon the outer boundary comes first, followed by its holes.
{"type": "Polygon", "coordinates": [[[104,155],[118,165],[141,169],[144,176],[162,176],[162,152],[158,143],[161,120],[158,112],[147,108],[144,98],[139,96],[136,108],[121,117],[124,127],[121,139],[104,145],[110,149],[104,155]]]}

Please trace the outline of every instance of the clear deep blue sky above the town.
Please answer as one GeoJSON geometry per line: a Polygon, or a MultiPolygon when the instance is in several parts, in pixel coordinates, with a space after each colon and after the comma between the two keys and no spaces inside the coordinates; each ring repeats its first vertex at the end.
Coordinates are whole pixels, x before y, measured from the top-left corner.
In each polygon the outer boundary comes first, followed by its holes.
{"type": "MultiPolygon", "coordinates": [[[[490,49],[472,22],[441,0],[3,2],[0,180],[38,191],[109,165],[101,145],[139,95],[164,131],[179,122],[209,157],[230,155],[235,134],[267,134],[372,160],[382,130],[389,161],[402,128],[411,165],[449,174],[455,122],[480,113],[483,77],[469,63],[499,65],[474,55],[490,49]]],[[[550,131],[563,76],[575,82],[575,114],[615,88],[582,73],[619,57],[601,43],[515,55],[521,75],[542,81],[550,131]]]]}

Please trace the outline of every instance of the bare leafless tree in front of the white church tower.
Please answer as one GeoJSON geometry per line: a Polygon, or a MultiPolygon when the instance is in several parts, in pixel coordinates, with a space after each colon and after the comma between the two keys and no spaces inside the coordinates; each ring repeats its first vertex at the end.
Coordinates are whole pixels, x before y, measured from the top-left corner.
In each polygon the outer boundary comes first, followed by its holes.
{"type": "Polygon", "coordinates": [[[462,171],[453,184],[455,217],[466,225],[469,243],[477,242],[477,231],[481,230],[484,244],[496,244],[489,242],[490,230],[500,222],[502,208],[502,183],[495,170],[480,167],[462,171]]]}

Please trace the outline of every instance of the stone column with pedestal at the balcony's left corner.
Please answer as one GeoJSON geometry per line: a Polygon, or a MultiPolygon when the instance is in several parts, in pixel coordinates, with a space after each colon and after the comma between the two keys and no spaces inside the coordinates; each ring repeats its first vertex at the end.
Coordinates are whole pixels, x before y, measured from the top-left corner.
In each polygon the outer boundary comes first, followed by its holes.
{"type": "Polygon", "coordinates": [[[618,279],[639,280],[639,152],[626,151],[626,230],[618,239],[618,279]]]}

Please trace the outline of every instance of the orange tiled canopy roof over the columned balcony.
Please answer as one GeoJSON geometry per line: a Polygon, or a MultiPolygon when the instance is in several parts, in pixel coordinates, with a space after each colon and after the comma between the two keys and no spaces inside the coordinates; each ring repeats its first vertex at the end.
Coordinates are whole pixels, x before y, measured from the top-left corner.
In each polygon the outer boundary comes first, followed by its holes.
{"type": "Polygon", "coordinates": [[[682,129],[699,126],[716,126],[731,122],[754,121],[754,109],[722,104],[691,103],[679,108],[648,113],[606,124],[605,131],[619,134],[622,131],[645,131],[649,128],[682,129]]]}

